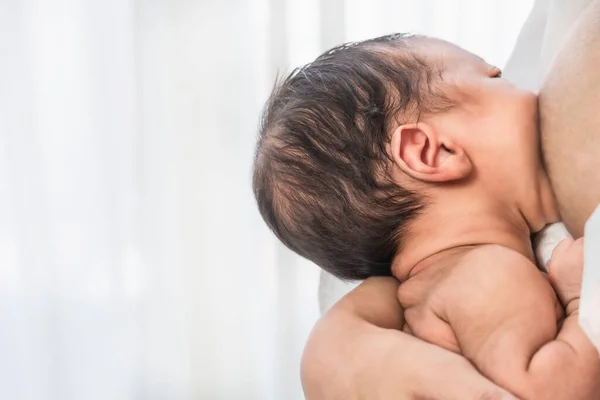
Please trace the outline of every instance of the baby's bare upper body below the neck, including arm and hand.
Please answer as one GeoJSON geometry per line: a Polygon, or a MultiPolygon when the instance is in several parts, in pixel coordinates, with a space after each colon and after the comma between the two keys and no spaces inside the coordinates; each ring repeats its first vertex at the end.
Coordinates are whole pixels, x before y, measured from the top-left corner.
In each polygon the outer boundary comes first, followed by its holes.
{"type": "Polygon", "coordinates": [[[440,254],[400,285],[405,331],[461,353],[522,399],[597,399],[600,358],[577,324],[582,261],[580,241],[557,248],[559,301],[547,276],[506,247],[440,254]]]}

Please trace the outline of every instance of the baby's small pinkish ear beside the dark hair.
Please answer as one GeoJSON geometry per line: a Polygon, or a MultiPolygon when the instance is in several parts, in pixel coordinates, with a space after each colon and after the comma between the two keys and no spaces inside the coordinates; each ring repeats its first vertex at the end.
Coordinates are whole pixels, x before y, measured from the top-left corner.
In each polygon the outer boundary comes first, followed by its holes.
{"type": "Polygon", "coordinates": [[[441,139],[426,122],[404,124],[392,133],[394,163],[410,177],[424,182],[450,182],[466,178],[473,166],[464,149],[441,139]]]}

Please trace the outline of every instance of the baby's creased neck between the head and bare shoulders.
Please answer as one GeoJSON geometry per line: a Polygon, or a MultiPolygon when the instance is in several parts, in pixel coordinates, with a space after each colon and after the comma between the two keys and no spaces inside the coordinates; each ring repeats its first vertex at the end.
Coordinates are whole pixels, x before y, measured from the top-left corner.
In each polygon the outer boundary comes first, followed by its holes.
{"type": "Polygon", "coordinates": [[[475,185],[460,191],[440,189],[409,227],[392,273],[402,280],[436,254],[483,244],[507,247],[533,261],[531,233],[559,221],[547,175],[540,169],[534,184],[501,196],[475,185]]]}

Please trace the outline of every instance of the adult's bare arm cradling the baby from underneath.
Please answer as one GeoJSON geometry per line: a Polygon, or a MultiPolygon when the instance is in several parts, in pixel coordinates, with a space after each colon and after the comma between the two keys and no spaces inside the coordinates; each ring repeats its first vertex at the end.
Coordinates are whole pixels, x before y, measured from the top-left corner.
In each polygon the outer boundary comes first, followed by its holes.
{"type": "Polygon", "coordinates": [[[308,400],[514,399],[458,354],[399,330],[393,278],[370,278],[317,323],[304,351],[308,400]]]}

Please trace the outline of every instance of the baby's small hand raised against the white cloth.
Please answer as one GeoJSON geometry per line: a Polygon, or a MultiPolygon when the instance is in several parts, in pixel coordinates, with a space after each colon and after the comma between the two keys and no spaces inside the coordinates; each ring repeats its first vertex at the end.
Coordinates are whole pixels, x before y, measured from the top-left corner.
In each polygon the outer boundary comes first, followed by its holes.
{"type": "Polygon", "coordinates": [[[583,238],[564,239],[552,252],[548,263],[550,283],[560,301],[567,309],[567,315],[578,308],[583,277],[583,238]]]}

